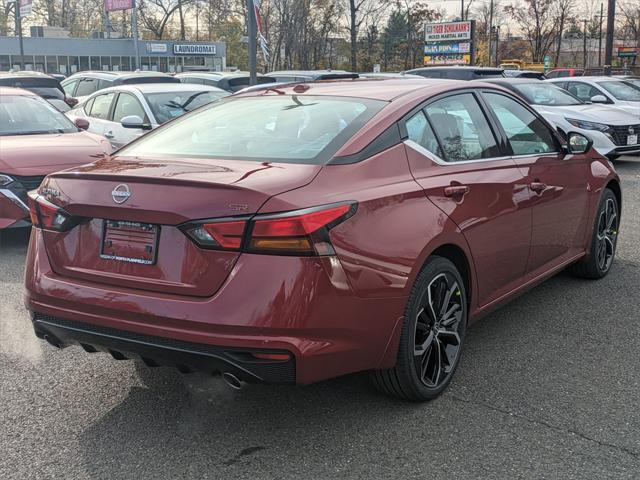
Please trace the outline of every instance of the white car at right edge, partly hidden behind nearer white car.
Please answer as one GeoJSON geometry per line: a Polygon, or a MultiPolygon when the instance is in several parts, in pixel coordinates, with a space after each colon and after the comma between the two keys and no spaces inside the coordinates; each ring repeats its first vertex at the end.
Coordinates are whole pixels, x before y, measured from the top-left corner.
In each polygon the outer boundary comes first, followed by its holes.
{"type": "Polygon", "coordinates": [[[640,120],[640,88],[613,77],[556,78],[552,82],[583,102],[621,108],[640,120]]]}

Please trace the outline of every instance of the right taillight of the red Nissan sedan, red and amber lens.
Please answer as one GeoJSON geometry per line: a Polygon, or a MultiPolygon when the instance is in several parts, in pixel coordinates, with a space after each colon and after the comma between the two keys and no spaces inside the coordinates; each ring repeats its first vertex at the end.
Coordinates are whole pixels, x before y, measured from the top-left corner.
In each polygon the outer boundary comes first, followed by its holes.
{"type": "Polygon", "coordinates": [[[225,218],[181,226],[200,247],[274,255],[333,255],[329,230],[351,217],[356,203],[274,215],[225,218]]]}

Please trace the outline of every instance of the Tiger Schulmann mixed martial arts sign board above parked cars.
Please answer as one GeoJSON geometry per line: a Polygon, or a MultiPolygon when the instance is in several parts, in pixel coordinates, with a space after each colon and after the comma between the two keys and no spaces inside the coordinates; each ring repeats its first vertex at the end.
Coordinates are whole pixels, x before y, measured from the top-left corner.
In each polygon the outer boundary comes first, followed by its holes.
{"type": "Polygon", "coordinates": [[[424,31],[424,65],[473,65],[473,20],[429,23],[424,31]]]}

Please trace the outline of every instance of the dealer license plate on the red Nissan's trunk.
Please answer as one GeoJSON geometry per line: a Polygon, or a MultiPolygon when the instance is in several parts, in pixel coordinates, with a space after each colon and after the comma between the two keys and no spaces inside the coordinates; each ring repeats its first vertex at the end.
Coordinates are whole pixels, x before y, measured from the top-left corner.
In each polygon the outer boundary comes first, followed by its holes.
{"type": "Polygon", "coordinates": [[[154,265],[158,258],[160,226],[124,220],[103,220],[100,258],[154,265]]]}

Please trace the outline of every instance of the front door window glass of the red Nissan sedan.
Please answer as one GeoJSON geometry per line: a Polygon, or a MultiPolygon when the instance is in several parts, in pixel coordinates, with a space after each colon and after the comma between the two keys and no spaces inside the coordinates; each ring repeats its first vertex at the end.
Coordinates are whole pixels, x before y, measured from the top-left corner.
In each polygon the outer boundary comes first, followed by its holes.
{"type": "Polygon", "coordinates": [[[533,113],[504,95],[484,95],[507,134],[514,155],[536,155],[557,151],[552,133],[533,113]]]}

